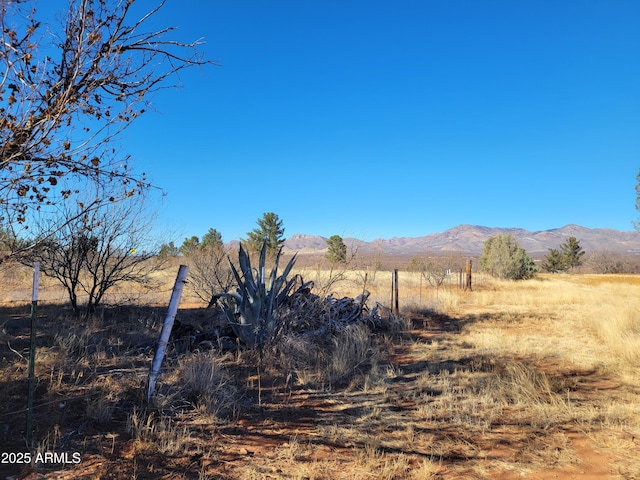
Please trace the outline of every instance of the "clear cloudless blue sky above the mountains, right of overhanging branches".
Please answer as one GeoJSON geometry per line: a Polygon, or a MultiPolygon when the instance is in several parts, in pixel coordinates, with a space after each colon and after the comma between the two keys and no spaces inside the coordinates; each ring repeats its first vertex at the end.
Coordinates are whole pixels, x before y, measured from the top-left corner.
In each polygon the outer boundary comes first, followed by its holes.
{"type": "Polygon", "coordinates": [[[417,237],[468,223],[632,230],[640,2],[177,1],[220,66],[123,136],[160,230],[417,237]]]}

